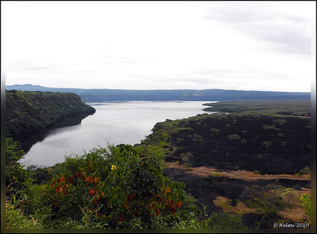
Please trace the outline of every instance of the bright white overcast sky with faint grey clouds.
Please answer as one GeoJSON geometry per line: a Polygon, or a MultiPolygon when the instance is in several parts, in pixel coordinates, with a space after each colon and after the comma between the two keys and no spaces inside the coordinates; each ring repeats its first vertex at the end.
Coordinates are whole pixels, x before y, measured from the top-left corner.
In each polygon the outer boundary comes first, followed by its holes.
{"type": "Polygon", "coordinates": [[[1,1],[1,65],[6,85],[311,92],[314,20],[316,1],[1,1]]]}

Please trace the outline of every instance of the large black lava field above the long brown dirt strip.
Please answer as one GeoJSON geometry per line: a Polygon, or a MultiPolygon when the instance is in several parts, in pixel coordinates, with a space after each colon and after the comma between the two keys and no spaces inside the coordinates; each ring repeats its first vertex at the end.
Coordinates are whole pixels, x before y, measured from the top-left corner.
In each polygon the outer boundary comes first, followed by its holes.
{"type": "Polygon", "coordinates": [[[210,115],[199,120],[199,124],[190,120],[187,127],[193,130],[176,132],[170,138],[170,144],[178,148],[170,160],[191,153],[194,167],[244,169],[261,174],[298,173],[311,164],[310,121],[252,115],[210,115]],[[197,140],[193,134],[201,137],[197,140]]]}

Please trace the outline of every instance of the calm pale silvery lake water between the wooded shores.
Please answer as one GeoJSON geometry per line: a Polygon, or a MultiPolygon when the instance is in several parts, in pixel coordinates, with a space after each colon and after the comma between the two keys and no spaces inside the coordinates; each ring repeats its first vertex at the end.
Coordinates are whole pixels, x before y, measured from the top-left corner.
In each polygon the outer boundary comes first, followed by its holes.
{"type": "MultiPolygon", "coordinates": [[[[152,133],[157,122],[211,113],[203,111],[203,103],[211,101],[130,101],[87,103],[96,113],[68,127],[48,129],[45,136],[35,142],[25,157],[24,164],[49,167],[63,162],[65,155],[82,155],[94,147],[121,143],[134,145],[152,133]]],[[[216,103],[216,102],[215,102],[216,103]]],[[[28,136],[32,138],[32,136],[28,136]]],[[[34,138],[34,137],[33,137],[34,138]]]]}

